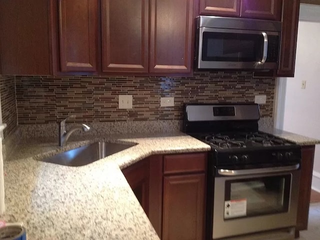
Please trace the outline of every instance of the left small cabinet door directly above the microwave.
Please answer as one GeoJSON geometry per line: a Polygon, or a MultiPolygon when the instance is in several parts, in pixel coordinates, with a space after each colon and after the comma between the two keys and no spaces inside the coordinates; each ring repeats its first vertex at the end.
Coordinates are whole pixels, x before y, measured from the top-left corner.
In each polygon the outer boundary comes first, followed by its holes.
{"type": "Polygon", "coordinates": [[[240,0],[200,0],[200,14],[239,16],[240,0]]]}

